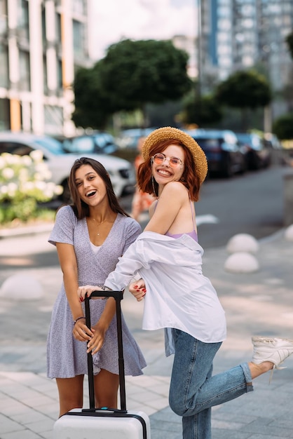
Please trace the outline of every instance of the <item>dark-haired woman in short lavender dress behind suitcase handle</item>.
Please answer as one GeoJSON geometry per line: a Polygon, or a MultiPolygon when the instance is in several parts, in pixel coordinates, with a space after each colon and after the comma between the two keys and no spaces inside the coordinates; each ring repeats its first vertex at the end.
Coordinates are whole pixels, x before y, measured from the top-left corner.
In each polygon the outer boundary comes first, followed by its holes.
{"type": "MultiPolygon", "coordinates": [[[[118,258],[141,232],[141,227],[118,204],[107,171],[92,158],[79,158],[69,175],[72,205],[58,211],[49,242],[56,246],[63,283],[53,307],[48,332],[48,377],[55,378],[60,416],[83,407],[83,376],[88,373],[87,346],[95,340],[93,356],[95,407],[117,407],[118,347],[116,306],[93,300],[88,329],[79,285],[103,285],[118,258]]],[[[146,362],[123,319],[125,374],[142,374],[146,362]]]]}

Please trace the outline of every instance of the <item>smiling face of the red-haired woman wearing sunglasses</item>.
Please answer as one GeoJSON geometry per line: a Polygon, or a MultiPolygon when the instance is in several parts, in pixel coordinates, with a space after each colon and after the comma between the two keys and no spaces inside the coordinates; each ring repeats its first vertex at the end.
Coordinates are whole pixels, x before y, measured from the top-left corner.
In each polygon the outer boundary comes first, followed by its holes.
{"type": "Polygon", "coordinates": [[[154,179],[159,187],[165,186],[170,182],[177,182],[182,177],[184,171],[184,149],[175,144],[170,144],[167,148],[161,151],[165,156],[165,160],[161,164],[152,164],[152,173],[154,179]],[[170,166],[170,158],[179,158],[182,163],[179,163],[177,168],[170,166]]]}

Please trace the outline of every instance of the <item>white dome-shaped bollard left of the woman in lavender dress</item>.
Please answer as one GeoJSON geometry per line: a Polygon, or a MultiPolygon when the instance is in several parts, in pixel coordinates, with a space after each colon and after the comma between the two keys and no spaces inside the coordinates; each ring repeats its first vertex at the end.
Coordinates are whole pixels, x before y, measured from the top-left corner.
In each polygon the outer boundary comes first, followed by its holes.
{"type": "Polygon", "coordinates": [[[43,297],[43,288],[39,281],[27,274],[13,274],[0,288],[0,297],[8,300],[35,300],[43,297]]]}

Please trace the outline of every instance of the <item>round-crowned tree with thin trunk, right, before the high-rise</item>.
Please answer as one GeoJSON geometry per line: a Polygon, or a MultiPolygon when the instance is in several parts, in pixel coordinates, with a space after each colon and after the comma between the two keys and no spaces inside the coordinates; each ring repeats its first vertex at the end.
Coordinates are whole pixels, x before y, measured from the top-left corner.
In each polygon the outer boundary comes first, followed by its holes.
{"type": "Polygon", "coordinates": [[[231,74],[216,89],[219,102],[242,112],[242,128],[247,129],[247,110],[266,107],[271,102],[271,87],[266,78],[257,72],[240,71],[231,74]]]}

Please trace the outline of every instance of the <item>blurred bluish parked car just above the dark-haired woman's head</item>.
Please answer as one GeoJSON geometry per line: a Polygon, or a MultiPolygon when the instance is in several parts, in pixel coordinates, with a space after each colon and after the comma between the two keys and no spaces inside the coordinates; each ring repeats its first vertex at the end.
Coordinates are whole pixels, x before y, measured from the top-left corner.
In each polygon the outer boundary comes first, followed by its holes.
{"type": "Polygon", "coordinates": [[[65,152],[76,154],[112,154],[118,149],[114,137],[102,132],[64,138],[62,147],[65,152]]]}

